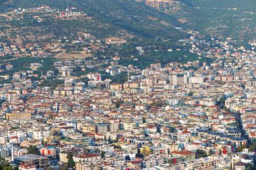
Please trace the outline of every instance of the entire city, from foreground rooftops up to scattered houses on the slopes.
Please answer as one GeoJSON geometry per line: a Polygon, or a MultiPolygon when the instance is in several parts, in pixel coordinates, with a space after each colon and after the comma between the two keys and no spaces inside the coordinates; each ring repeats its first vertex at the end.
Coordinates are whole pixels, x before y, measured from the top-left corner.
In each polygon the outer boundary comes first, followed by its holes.
{"type": "MultiPolygon", "coordinates": [[[[2,15],[25,12],[92,19],[47,5],[2,15]]],[[[0,39],[0,169],[255,169],[255,39],[176,29],[187,38],[160,57],[162,46],[127,56],[129,38],[86,30],[0,39]]]]}

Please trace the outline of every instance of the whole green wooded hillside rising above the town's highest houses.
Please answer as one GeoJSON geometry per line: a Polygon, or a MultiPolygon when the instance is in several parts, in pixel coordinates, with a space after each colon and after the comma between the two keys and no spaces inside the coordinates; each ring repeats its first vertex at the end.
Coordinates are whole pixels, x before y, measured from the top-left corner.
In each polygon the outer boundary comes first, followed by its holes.
{"type": "Polygon", "coordinates": [[[238,44],[247,44],[256,34],[254,0],[1,0],[0,3],[3,12],[39,5],[64,11],[69,6],[92,17],[73,21],[40,15],[44,22],[38,23],[30,19],[30,15],[22,18],[22,24],[20,19],[7,23],[0,21],[0,38],[18,44],[38,40],[48,42],[85,30],[100,39],[109,36],[135,38],[133,42],[137,45],[147,40],[158,43],[168,40],[168,47],[186,38],[188,30],[232,38],[238,40],[238,44]],[[13,35],[13,30],[17,35],[13,35]]]}

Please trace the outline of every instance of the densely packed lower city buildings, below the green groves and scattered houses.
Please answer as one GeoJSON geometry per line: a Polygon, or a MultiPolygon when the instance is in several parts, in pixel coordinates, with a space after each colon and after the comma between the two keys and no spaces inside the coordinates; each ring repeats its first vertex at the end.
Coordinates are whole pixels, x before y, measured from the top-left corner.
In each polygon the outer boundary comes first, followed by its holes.
{"type": "Polygon", "coordinates": [[[107,67],[133,75],[111,83],[88,73],[88,84],[70,76],[53,90],[15,73],[0,91],[1,158],[20,169],[58,169],[69,153],[75,169],[245,169],[255,163],[255,57],[236,56],[238,69],[226,67],[232,57],[196,71],[107,67]]]}

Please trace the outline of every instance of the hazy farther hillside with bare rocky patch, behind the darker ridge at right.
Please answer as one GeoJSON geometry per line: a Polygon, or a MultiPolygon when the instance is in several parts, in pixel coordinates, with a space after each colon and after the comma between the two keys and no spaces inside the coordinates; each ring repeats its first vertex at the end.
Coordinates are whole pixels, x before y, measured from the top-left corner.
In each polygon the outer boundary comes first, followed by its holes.
{"type": "Polygon", "coordinates": [[[143,3],[175,15],[179,22],[202,34],[243,42],[253,40],[256,34],[254,0],[143,0],[143,3]]]}

